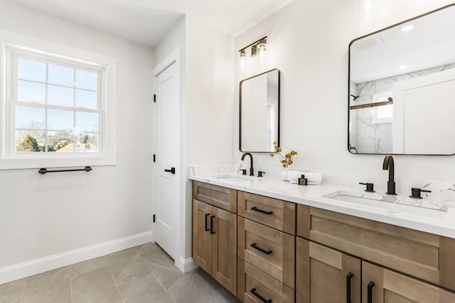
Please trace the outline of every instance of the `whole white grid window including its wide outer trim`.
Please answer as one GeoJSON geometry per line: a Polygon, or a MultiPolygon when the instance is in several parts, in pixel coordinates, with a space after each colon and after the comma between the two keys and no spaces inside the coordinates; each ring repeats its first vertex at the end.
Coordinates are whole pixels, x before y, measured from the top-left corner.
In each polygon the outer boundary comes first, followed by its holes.
{"type": "Polygon", "coordinates": [[[0,170],[117,164],[117,58],[0,30],[0,170]]]}

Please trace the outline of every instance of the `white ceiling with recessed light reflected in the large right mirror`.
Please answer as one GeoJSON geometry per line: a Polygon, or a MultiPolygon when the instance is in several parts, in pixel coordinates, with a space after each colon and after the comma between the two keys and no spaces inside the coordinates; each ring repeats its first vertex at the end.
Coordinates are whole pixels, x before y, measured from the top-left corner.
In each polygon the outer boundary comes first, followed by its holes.
{"type": "Polygon", "coordinates": [[[356,40],[350,59],[355,83],[455,63],[455,6],[356,40]]]}

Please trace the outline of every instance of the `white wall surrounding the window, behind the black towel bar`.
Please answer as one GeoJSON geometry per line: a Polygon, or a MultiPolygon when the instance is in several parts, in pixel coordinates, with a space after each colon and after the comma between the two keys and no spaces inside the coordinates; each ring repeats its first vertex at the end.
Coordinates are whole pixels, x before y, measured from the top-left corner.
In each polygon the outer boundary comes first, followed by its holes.
{"type": "Polygon", "coordinates": [[[0,29],[114,57],[118,71],[117,165],[48,175],[0,170],[0,283],[18,263],[125,237],[116,249],[150,241],[154,50],[4,1],[0,29]]]}

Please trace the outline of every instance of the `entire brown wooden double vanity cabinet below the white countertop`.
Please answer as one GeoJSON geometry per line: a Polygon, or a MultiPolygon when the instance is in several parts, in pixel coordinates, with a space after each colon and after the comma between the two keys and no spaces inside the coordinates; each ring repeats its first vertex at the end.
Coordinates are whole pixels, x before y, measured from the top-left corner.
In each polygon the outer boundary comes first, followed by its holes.
{"type": "Polygon", "coordinates": [[[196,181],[193,260],[242,302],[455,302],[454,238],[196,181]]]}

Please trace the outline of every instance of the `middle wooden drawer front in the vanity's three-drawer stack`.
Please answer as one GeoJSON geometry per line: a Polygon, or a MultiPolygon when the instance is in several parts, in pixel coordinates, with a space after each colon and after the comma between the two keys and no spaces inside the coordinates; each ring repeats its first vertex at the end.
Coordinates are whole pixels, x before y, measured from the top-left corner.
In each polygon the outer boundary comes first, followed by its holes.
{"type": "Polygon", "coordinates": [[[295,237],[237,216],[237,255],[294,289],[295,237]]]}

